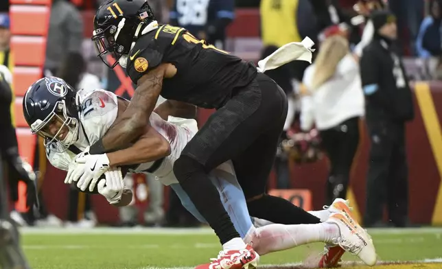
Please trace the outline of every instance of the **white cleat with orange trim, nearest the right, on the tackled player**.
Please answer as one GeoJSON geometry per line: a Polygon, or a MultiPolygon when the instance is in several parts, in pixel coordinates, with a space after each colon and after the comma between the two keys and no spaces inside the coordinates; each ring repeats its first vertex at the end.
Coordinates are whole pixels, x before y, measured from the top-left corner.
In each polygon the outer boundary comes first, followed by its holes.
{"type": "Polygon", "coordinates": [[[340,238],[334,239],[334,244],[358,256],[367,266],[376,264],[373,240],[351,215],[345,212],[332,213],[327,222],[337,224],[340,230],[340,238]]]}

